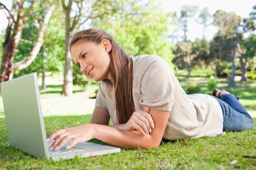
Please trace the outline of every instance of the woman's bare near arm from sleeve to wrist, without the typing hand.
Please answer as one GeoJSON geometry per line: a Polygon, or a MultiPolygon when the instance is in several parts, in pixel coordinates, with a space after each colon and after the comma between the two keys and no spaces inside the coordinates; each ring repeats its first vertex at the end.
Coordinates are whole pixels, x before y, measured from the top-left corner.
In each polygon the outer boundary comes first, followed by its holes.
{"type": "Polygon", "coordinates": [[[155,124],[155,128],[153,128],[149,135],[143,135],[137,130],[119,130],[113,129],[110,126],[104,128],[96,125],[94,137],[120,148],[157,147],[161,143],[170,112],[150,110],[149,113],[155,124]]]}

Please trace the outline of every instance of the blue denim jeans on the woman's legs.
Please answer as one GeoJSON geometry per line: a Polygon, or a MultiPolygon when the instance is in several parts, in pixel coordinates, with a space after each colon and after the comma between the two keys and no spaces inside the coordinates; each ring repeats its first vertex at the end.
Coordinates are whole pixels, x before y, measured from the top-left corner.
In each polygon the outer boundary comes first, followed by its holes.
{"type": "Polygon", "coordinates": [[[254,122],[252,117],[247,113],[245,107],[240,104],[235,95],[223,94],[221,99],[213,96],[223,113],[223,131],[238,132],[246,129],[253,129],[254,122]]]}

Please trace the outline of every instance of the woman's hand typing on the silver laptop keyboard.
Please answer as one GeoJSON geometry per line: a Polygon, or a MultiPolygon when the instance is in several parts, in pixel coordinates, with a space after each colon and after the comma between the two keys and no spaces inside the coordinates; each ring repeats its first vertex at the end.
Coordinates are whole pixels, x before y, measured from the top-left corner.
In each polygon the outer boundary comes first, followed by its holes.
{"type": "Polygon", "coordinates": [[[52,141],[54,139],[54,142],[50,147],[50,151],[52,151],[54,149],[58,150],[64,144],[66,144],[67,141],[73,140],[67,146],[67,149],[69,149],[79,142],[84,142],[93,139],[94,133],[95,132],[93,124],[84,124],[72,128],[56,130],[54,133],[52,133],[52,135],[50,135],[47,138],[47,142],[52,141]]]}

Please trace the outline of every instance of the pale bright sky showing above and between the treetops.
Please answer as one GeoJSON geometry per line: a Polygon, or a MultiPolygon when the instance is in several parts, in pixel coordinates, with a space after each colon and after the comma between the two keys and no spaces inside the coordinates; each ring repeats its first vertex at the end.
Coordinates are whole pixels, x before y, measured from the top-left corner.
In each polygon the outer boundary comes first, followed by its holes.
{"type": "MultiPolygon", "coordinates": [[[[195,5],[199,9],[209,8],[213,15],[217,10],[231,12],[234,11],[237,15],[247,18],[252,11],[252,7],[256,4],[255,0],[162,0],[165,12],[177,11],[179,13],[180,7],[184,5],[195,5]]],[[[7,6],[11,5],[10,0],[1,0],[7,6]]],[[[6,29],[7,19],[4,13],[0,10],[0,33],[6,29]]],[[[202,26],[198,26],[193,20],[189,23],[189,32],[187,33],[189,39],[194,41],[195,38],[202,38],[202,26]]],[[[208,40],[216,33],[217,29],[214,26],[207,27],[205,34],[208,40]]]]}

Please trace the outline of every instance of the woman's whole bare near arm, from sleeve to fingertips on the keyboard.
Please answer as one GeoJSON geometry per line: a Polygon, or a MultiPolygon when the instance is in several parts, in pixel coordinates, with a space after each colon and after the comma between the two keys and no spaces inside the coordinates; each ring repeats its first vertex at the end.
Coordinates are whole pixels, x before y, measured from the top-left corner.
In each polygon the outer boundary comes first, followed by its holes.
{"type": "Polygon", "coordinates": [[[85,124],[73,128],[57,130],[47,139],[55,139],[51,150],[61,148],[67,141],[73,140],[67,148],[75,144],[96,138],[108,144],[120,148],[152,148],[159,146],[170,112],[150,110],[149,111],[155,128],[149,135],[143,135],[137,130],[120,130],[111,126],[100,124],[85,124]]]}

